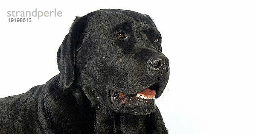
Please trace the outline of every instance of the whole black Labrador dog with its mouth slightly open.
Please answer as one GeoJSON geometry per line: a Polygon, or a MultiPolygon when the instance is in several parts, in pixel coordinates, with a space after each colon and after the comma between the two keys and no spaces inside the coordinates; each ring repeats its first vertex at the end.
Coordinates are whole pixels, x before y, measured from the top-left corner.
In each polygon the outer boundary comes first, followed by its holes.
{"type": "Polygon", "coordinates": [[[169,61],[153,20],[102,9],[76,17],[58,50],[60,73],[0,99],[1,134],[166,134],[154,103],[169,61]]]}

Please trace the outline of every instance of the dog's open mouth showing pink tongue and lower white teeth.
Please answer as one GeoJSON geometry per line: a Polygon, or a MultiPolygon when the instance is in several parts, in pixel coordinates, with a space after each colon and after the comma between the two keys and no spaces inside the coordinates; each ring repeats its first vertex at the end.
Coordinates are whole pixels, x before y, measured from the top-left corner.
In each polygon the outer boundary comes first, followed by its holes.
{"type": "Polygon", "coordinates": [[[114,92],[112,94],[112,100],[116,105],[122,105],[124,103],[135,102],[154,102],[156,92],[158,90],[158,84],[145,88],[143,91],[137,92],[133,95],[125,94],[124,92],[114,92]]]}

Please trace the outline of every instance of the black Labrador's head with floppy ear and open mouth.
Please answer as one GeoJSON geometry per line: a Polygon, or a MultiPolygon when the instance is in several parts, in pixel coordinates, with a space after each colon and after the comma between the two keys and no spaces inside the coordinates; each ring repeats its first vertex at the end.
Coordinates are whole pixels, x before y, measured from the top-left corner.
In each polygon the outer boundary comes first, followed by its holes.
{"type": "Polygon", "coordinates": [[[151,17],[134,11],[76,17],[58,50],[59,85],[81,88],[93,106],[149,114],[169,78],[161,39],[151,17]]]}

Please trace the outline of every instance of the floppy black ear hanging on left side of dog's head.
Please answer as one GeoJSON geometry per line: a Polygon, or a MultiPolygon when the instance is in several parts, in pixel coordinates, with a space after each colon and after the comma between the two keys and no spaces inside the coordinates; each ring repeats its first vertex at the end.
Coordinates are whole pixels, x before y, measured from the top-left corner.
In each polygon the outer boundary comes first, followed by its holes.
{"type": "Polygon", "coordinates": [[[85,22],[83,17],[76,17],[69,33],[65,36],[57,53],[58,69],[60,71],[59,86],[67,89],[75,79],[76,47],[83,41],[85,22]]]}

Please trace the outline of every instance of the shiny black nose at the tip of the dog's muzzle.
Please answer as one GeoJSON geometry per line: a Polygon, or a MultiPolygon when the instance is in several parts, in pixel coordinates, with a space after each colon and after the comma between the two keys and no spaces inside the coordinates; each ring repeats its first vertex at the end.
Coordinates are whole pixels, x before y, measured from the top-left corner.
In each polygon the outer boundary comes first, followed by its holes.
{"type": "Polygon", "coordinates": [[[150,60],[150,67],[152,67],[156,71],[167,72],[169,70],[169,60],[162,56],[156,57],[154,60],[150,60]],[[167,70],[167,71],[166,71],[167,70]]]}

